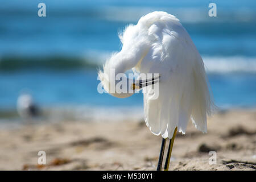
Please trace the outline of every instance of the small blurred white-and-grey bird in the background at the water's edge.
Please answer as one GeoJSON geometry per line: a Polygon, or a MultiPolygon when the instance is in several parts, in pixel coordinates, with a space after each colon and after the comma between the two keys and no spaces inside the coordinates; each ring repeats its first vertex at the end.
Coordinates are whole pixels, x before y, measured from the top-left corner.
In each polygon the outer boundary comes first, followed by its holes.
{"type": "Polygon", "coordinates": [[[21,118],[30,120],[39,114],[32,96],[28,93],[22,93],[17,100],[17,110],[21,118]]]}

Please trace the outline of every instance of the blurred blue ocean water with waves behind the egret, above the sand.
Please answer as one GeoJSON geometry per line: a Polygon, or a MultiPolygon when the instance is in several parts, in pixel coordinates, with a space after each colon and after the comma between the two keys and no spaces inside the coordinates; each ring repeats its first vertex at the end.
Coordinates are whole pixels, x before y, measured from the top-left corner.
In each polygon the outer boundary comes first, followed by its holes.
{"type": "Polygon", "coordinates": [[[152,11],[175,15],[191,35],[219,109],[255,107],[253,0],[9,0],[0,5],[0,123],[19,121],[16,102],[24,89],[55,121],[141,118],[142,94],[118,99],[98,93],[97,69],[121,49],[118,31],[152,11]],[[38,16],[40,2],[46,17],[38,16]],[[211,2],[217,17],[208,15],[211,2]]]}

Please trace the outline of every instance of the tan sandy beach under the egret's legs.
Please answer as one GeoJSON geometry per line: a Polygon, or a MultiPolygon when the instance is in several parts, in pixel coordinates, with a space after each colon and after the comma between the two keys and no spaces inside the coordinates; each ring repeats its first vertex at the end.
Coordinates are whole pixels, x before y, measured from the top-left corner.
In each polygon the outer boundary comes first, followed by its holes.
{"type": "MultiPolygon", "coordinates": [[[[0,169],[155,170],[161,140],[143,121],[2,128],[0,169]],[[38,164],[39,151],[46,152],[46,165],[38,164]]],[[[255,170],[255,146],[256,110],[221,111],[208,120],[207,134],[189,123],[187,133],[177,135],[170,170],[255,170]],[[216,151],[216,164],[209,164],[209,151],[216,151]]]]}

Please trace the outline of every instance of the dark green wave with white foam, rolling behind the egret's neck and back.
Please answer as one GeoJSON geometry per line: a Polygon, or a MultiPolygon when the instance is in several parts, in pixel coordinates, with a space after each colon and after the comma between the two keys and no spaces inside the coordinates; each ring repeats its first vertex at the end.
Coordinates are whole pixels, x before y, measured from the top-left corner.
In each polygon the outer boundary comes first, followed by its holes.
{"type": "MultiPolygon", "coordinates": [[[[111,52],[88,51],[82,57],[72,56],[5,56],[0,58],[0,71],[20,69],[97,69],[111,52]]],[[[256,73],[256,57],[202,56],[207,73],[256,73]]]]}

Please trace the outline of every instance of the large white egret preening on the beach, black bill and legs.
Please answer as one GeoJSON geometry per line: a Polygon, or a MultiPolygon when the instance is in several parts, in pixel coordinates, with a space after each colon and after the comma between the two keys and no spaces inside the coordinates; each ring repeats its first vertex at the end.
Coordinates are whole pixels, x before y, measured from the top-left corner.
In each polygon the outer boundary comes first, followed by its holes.
{"type": "MultiPolygon", "coordinates": [[[[106,61],[98,75],[108,93],[124,98],[133,93],[110,92],[112,69],[116,75],[129,69],[141,74],[159,73],[159,79],[155,78],[159,81],[158,98],[151,99],[150,92],[143,93],[144,120],[153,134],[163,138],[158,170],[162,168],[166,139],[170,139],[164,166],[168,170],[176,131],[185,134],[188,121],[192,121],[196,129],[207,132],[207,117],[214,104],[203,60],[179,19],[166,12],[155,11],[142,16],[136,25],[127,26],[119,38],[121,51],[106,61]]],[[[150,81],[141,81],[139,85],[131,83],[127,92],[135,86],[143,88],[150,81]]],[[[114,80],[114,84],[118,82],[114,80]]]]}

